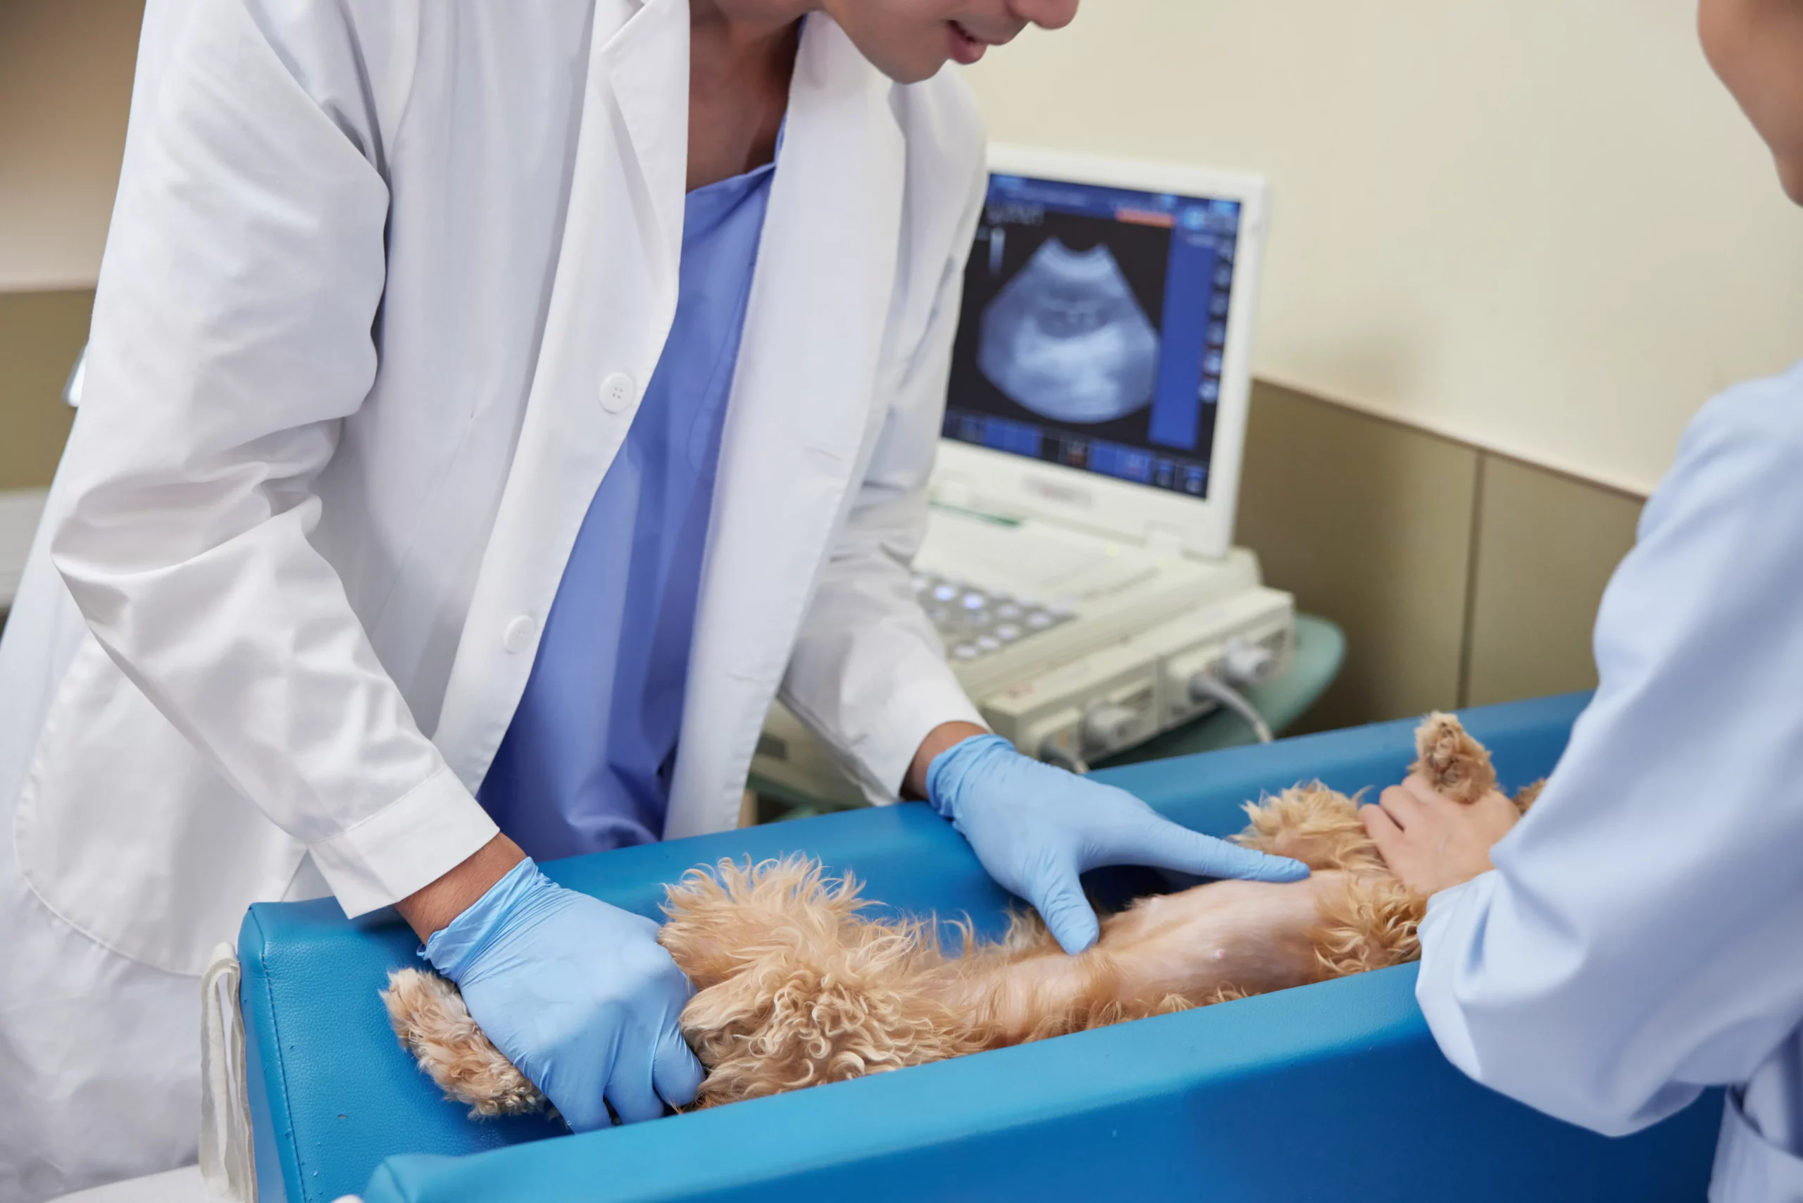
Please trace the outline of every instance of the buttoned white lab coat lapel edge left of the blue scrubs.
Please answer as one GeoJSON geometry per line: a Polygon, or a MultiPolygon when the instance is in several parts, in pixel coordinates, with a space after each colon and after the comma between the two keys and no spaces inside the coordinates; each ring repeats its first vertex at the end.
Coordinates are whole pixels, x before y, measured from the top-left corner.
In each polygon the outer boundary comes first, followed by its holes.
{"type": "Polygon", "coordinates": [[[435,732],[471,790],[507,734],[582,516],[676,314],[689,2],[602,0],[591,38],[545,335],[435,732]],[[608,386],[620,375],[633,382],[626,406],[608,386]]]}

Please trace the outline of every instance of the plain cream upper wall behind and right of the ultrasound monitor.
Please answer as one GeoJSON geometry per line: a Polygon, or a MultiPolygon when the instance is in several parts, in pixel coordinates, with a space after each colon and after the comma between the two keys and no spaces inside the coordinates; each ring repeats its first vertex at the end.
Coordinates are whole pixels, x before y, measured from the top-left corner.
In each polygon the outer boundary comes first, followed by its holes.
{"type": "Polygon", "coordinates": [[[1089,0],[970,72],[997,139],[1273,180],[1255,372],[1644,492],[1803,357],[1803,215],[1697,0],[1089,0]]]}

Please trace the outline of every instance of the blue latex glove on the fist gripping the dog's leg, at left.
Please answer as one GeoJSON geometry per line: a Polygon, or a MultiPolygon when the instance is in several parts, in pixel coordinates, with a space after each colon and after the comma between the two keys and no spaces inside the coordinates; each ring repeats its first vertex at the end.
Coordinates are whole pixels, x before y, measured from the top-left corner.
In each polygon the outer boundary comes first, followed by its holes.
{"type": "Polygon", "coordinates": [[[701,1089],[676,1017],[694,987],[642,914],[521,860],[420,952],[572,1129],[654,1120],[701,1089]],[[606,1100],[606,1102],[602,1102],[606,1100]]]}

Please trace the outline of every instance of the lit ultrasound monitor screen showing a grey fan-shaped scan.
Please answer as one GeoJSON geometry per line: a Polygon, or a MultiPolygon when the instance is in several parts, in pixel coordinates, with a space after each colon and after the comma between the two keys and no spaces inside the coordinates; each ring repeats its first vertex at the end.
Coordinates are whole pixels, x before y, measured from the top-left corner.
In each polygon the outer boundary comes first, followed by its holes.
{"type": "Polygon", "coordinates": [[[990,177],[945,436],[1208,496],[1237,200],[990,177]]]}

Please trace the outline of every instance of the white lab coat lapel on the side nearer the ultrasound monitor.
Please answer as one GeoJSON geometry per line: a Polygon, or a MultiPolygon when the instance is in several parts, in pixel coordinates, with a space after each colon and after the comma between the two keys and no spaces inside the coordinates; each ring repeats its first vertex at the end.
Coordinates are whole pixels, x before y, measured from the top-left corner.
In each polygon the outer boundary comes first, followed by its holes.
{"type": "Polygon", "coordinates": [[[869,455],[905,144],[883,79],[808,18],[721,440],[665,837],[730,826],[869,455]]]}

